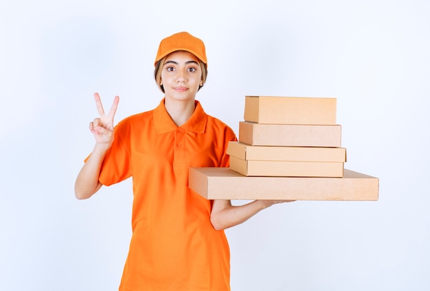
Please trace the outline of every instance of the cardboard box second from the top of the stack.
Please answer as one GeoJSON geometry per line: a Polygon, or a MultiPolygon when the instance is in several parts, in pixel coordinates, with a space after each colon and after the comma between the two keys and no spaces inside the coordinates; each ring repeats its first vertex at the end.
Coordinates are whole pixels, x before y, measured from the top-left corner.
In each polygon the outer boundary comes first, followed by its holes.
{"type": "Polygon", "coordinates": [[[341,147],[341,125],[269,125],[239,122],[239,141],[279,147],[341,147]]]}

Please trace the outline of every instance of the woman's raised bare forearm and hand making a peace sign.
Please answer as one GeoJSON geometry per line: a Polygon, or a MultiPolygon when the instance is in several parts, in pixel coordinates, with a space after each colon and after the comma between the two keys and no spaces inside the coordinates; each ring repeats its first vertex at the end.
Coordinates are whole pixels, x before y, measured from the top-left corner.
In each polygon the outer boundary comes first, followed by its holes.
{"type": "Polygon", "coordinates": [[[104,114],[98,93],[94,94],[94,99],[100,118],[95,118],[89,124],[89,129],[95,138],[95,147],[76,178],[75,196],[77,199],[87,199],[102,187],[102,184],[98,181],[100,168],[102,167],[104,156],[109,151],[114,139],[113,117],[120,99],[115,97],[111,111],[107,115],[104,114]]]}

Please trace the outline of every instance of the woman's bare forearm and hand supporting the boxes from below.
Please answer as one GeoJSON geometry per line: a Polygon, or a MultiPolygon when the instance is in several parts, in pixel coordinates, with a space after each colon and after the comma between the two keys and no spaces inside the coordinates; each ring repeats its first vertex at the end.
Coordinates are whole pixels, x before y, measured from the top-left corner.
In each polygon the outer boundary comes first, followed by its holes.
{"type": "Polygon", "coordinates": [[[293,200],[256,200],[245,205],[233,206],[229,200],[214,200],[210,221],[214,229],[221,230],[240,225],[256,215],[264,208],[276,203],[292,202],[293,200]]]}

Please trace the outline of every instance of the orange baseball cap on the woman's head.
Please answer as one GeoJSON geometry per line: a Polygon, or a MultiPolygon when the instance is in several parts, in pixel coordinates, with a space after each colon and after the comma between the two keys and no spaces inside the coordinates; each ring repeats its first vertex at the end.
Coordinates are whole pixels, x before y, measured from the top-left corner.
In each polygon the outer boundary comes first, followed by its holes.
{"type": "Polygon", "coordinates": [[[159,60],[166,57],[166,55],[173,53],[174,51],[188,51],[199,58],[199,60],[204,62],[207,66],[205,44],[200,38],[196,38],[185,31],[172,34],[171,36],[161,40],[154,65],[157,64],[159,60]]]}

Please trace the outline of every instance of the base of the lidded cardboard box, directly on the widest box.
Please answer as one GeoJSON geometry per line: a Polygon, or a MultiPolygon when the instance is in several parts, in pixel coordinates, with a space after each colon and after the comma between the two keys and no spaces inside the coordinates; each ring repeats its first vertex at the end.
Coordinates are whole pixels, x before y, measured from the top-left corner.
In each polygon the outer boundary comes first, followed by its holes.
{"type": "Polygon", "coordinates": [[[245,176],[343,177],[343,162],[247,161],[231,155],[230,169],[245,176]]]}

